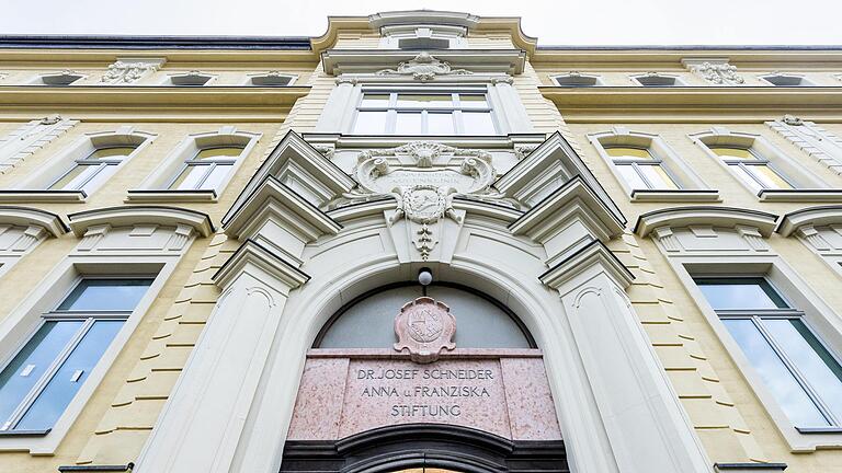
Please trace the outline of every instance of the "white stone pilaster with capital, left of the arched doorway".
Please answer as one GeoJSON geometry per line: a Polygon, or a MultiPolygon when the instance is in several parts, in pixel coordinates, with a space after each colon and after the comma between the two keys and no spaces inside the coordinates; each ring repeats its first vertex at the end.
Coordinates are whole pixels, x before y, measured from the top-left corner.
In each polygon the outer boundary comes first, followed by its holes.
{"type": "Polygon", "coordinates": [[[307,276],[247,241],[215,279],[223,295],[137,472],[231,471],[287,296],[307,276]]]}

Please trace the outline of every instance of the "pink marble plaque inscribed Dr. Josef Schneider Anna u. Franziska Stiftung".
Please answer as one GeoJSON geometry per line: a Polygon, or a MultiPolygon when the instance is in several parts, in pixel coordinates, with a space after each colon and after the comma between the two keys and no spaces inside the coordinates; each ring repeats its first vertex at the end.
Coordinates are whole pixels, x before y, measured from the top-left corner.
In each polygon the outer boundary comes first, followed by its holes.
{"type": "Polygon", "coordinates": [[[471,357],[456,349],[424,365],[364,351],[311,351],[289,439],[335,440],[400,424],[459,425],[513,440],[561,438],[537,350],[471,357]]]}

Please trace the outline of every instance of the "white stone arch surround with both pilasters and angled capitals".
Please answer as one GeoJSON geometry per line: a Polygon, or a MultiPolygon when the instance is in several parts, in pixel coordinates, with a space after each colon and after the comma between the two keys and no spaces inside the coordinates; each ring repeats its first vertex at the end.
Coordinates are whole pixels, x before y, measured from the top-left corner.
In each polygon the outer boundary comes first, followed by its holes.
{"type": "Polygon", "coordinates": [[[535,335],[571,471],[710,470],[605,246],[625,219],[560,135],[497,181],[517,208],[454,199],[462,221],[426,262],[407,257],[391,199],[320,210],[356,184],[337,171],[289,135],[224,219],[242,246],[138,472],[277,472],[314,337],[343,302],[422,264],[504,301],[535,335]],[[320,192],[298,193],[292,173],[320,192]]]}

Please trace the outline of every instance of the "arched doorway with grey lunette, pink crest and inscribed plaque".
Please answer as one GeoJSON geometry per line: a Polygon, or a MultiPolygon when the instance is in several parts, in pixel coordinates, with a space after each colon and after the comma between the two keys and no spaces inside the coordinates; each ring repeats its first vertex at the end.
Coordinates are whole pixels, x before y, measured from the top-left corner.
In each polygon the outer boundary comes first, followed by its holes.
{"type": "Polygon", "coordinates": [[[284,447],[281,472],[310,471],[568,471],[541,350],[470,287],[396,284],[351,300],[307,354],[284,447]]]}

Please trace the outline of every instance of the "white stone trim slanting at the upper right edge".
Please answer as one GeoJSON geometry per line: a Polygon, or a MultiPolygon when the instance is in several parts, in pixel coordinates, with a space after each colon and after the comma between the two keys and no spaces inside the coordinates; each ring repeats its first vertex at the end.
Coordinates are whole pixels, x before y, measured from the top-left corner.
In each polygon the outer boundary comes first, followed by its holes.
{"type": "Polygon", "coordinates": [[[842,174],[842,138],[815,122],[792,115],[766,122],[766,125],[834,173],[842,174]]]}

